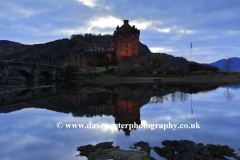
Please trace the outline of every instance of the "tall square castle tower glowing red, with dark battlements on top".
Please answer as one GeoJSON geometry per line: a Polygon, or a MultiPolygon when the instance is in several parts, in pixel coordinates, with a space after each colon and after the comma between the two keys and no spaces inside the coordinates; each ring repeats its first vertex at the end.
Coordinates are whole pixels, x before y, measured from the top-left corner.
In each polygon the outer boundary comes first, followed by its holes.
{"type": "Polygon", "coordinates": [[[140,30],[135,26],[130,26],[128,20],[124,20],[124,24],[117,26],[114,31],[114,51],[117,61],[120,62],[125,56],[133,54],[139,56],[139,35],[140,30]]]}

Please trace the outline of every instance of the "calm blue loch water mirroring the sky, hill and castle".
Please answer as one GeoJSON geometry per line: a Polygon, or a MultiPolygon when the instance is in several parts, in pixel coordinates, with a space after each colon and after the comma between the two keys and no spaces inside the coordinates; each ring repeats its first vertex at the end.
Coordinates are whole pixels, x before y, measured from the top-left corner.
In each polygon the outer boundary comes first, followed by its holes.
{"type": "MultiPolygon", "coordinates": [[[[161,147],[164,140],[185,139],[229,145],[239,154],[239,95],[237,85],[203,84],[55,84],[2,91],[0,159],[77,160],[86,159],[76,157],[76,149],[87,144],[113,141],[128,149],[138,141],[161,147]],[[196,123],[197,128],[189,128],[196,123]],[[67,128],[68,124],[77,128],[67,128]],[[101,124],[111,127],[97,128],[101,124]],[[120,128],[122,124],[146,128],[129,130],[120,128]]],[[[153,150],[151,155],[161,159],[153,150]]]]}

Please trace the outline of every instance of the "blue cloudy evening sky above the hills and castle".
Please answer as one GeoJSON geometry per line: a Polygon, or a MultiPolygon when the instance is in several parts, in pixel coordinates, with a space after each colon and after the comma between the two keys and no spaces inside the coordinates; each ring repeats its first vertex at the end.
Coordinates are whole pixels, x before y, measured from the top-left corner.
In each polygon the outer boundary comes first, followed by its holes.
{"type": "Polygon", "coordinates": [[[6,0],[0,40],[23,44],[113,34],[128,19],[152,52],[209,63],[240,57],[240,0],[6,0]]]}

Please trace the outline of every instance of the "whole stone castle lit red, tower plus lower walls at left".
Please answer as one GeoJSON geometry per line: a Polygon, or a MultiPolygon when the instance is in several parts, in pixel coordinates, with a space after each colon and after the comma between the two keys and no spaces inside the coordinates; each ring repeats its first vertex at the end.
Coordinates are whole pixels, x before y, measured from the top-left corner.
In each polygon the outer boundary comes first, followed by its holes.
{"type": "Polygon", "coordinates": [[[91,66],[117,65],[126,57],[139,57],[140,30],[130,26],[128,20],[117,26],[111,47],[82,48],[77,55],[71,57],[72,63],[77,63],[80,68],[91,66]]]}

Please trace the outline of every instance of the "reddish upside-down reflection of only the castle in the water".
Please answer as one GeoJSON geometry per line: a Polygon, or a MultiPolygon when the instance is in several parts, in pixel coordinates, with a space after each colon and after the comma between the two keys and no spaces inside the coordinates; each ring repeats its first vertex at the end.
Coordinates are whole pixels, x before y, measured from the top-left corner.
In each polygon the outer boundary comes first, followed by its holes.
{"type": "MultiPolygon", "coordinates": [[[[140,108],[148,103],[151,92],[145,93],[145,98],[140,98],[141,94],[137,91],[119,92],[119,93],[104,93],[104,92],[79,92],[78,106],[86,108],[89,114],[94,115],[112,115],[115,118],[116,124],[141,124],[140,108]],[[146,96],[147,95],[147,96],[146,96]]],[[[77,116],[77,115],[74,115],[77,116]]],[[[125,135],[130,135],[129,127],[120,128],[125,135]]],[[[133,128],[136,129],[136,128],[133,128]]]]}

